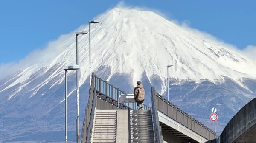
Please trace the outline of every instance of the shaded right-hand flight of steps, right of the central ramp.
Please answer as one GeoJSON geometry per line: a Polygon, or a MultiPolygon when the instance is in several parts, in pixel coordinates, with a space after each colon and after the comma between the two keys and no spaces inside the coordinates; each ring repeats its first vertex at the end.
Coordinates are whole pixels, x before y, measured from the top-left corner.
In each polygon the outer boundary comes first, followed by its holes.
{"type": "Polygon", "coordinates": [[[151,110],[130,111],[129,138],[129,143],[155,143],[151,110]]]}

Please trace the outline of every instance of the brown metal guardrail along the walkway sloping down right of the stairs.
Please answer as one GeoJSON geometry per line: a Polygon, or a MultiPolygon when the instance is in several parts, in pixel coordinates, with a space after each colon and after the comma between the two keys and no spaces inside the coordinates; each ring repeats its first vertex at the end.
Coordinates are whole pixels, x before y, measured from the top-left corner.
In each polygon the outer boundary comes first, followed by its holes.
{"type": "MultiPolygon", "coordinates": [[[[153,87],[154,88],[154,87],[153,87]]],[[[206,138],[207,140],[213,140],[216,138],[216,133],[205,126],[203,123],[197,121],[188,113],[184,112],[177,106],[173,105],[159,93],[154,93],[156,109],[162,112],[164,115],[168,116],[172,120],[180,123],[186,128],[190,129],[192,132],[206,138]]]]}

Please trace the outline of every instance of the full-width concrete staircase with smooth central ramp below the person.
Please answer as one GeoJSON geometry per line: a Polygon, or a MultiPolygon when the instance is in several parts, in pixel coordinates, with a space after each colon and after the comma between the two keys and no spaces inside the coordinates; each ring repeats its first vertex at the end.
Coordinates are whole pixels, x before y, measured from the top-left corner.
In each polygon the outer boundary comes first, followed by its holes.
{"type": "Polygon", "coordinates": [[[90,143],[155,143],[151,110],[95,110],[90,143]]]}

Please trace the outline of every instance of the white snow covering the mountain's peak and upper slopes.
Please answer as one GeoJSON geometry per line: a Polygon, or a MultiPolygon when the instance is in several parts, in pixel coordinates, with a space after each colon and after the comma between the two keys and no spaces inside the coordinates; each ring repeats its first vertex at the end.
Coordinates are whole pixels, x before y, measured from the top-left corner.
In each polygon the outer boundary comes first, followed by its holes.
{"type": "MultiPolygon", "coordinates": [[[[242,77],[256,78],[256,63],[252,60],[218,43],[202,39],[154,12],[113,8],[97,17],[97,20],[99,24],[93,25],[91,30],[92,71],[102,65],[111,67],[107,80],[115,73],[124,73],[130,74],[132,82],[136,83],[145,72],[148,77],[157,74],[164,81],[167,76],[166,65],[169,64],[174,65],[169,69],[169,75],[176,79],[222,81],[223,76],[227,76],[241,84],[242,77]]],[[[88,27],[81,30],[88,31],[88,27]]],[[[63,43],[56,45],[61,52],[51,62],[24,68],[17,75],[19,79],[0,91],[18,83],[22,84],[19,87],[22,89],[28,84],[24,81],[40,68],[45,68],[44,72],[47,72],[50,67],[59,65],[58,70],[41,85],[57,74],[63,75],[63,66],[75,64],[76,61],[75,38],[70,35],[63,43]]],[[[88,47],[87,35],[79,36],[80,85],[89,75],[88,47]]],[[[164,82],[162,86],[166,88],[164,82]]],[[[39,88],[40,85],[35,90],[39,88]]],[[[13,95],[15,93],[9,98],[13,95]]]]}

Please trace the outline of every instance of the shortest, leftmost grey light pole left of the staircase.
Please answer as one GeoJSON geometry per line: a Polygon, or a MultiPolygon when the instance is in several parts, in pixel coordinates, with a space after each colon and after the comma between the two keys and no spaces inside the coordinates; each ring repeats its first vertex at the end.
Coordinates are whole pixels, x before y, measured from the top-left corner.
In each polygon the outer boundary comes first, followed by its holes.
{"type": "Polygon", "coordinates": [[[65,70],[65,143],[67,143],[67,70],[79,70],[79,66],[77,64],[64,66],[65,70]]]}

